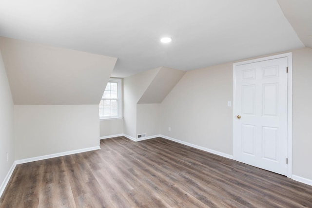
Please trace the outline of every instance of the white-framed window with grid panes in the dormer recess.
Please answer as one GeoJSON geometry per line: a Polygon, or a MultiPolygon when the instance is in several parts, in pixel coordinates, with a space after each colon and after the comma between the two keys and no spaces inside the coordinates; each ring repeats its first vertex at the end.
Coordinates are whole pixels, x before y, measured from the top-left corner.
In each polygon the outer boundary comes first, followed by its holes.
{"type": "Polygon", "coordinates": [[[121,118],[121,79],[110,78],[99,103],[99,118],[121,118]]]}

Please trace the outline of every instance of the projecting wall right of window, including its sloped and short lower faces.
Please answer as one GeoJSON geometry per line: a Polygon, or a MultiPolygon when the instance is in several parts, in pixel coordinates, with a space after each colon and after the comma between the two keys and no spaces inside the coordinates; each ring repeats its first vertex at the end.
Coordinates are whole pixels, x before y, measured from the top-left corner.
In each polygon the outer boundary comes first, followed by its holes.
{"type": "Polygon", "coordinates": [[[186,72],[158,67],[124,81],[124,133],[133,138],[159,134],[159,103],[186,72]]]}

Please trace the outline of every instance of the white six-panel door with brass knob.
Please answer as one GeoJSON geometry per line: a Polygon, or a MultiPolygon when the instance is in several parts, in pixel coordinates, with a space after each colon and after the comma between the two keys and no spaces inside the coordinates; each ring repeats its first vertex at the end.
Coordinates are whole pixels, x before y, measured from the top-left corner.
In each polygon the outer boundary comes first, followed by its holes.
{"type": "Polygon", "coordinates": [[[234,68],[234,159],[287,175],[287,57],[234,68]]]}

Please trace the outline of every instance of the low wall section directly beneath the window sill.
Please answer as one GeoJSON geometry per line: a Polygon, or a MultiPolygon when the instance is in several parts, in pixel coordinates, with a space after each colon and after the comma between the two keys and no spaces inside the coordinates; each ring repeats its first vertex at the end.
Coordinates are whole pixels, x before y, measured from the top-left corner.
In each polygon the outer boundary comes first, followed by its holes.
{"type": "Polygon", "coordinates": [[[99,136],[114,136],[123,133],[123,118],[99,121],[99,136]]]}

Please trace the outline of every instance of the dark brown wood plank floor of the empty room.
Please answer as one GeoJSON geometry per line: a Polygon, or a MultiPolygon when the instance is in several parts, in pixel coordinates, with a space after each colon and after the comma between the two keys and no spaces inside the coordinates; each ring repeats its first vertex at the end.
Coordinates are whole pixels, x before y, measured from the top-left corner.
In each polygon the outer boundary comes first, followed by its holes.
{"type": "Polygon", "coordinates": [[[163,138],[20,164],[1,208],[312,208],[312,187],[163,138]]]}

